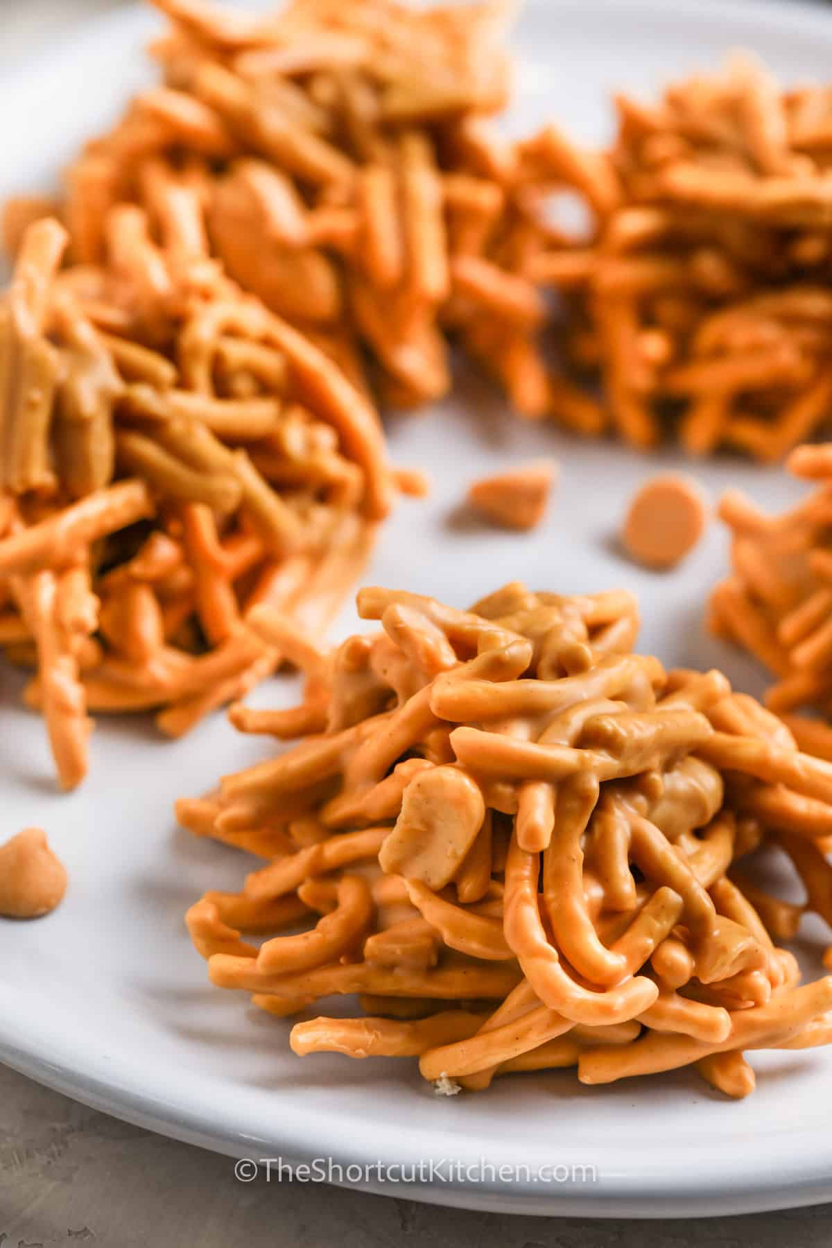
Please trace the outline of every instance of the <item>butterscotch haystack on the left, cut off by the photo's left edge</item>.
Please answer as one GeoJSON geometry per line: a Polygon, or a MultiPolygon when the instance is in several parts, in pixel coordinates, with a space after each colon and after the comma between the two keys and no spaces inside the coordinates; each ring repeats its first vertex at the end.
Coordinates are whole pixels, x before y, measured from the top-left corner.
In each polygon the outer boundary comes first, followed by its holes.
{"type": "Polygon", "coordinates": [[[338,366],[210,258],[197,188],[155,186],[158,240],[116,205],[61,270],[37,221],[0,301],[0,644],[67,789],[89,711],[176,736],[272,671],[256,604],[322,635],[395,484],[338,366]]]}

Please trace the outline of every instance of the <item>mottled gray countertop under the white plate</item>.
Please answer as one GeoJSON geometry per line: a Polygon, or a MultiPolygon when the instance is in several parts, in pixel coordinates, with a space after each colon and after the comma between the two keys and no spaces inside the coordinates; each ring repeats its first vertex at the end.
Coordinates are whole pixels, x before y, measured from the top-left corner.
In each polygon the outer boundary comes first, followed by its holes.
{"type": "MultiPolygon", "coordinates": [[[[114,0],[0,0],[12,64],[114,0]]],[[[0,1067],[0,1248],[504,1248],[828,1244],[832,1206],[697,1222],[528,1218],[438,1209],[302,1183],[241,1183],[232,1162],[76,1104],[0,1067]]]]}

